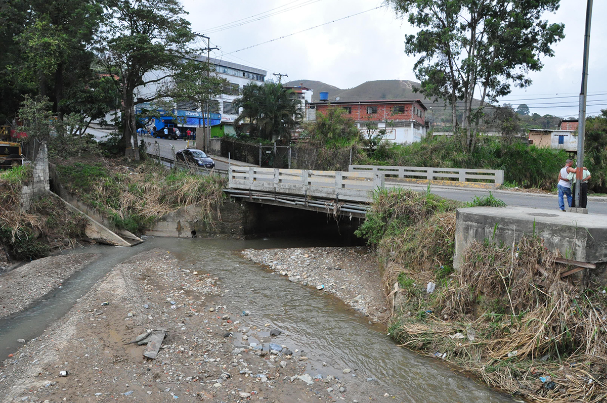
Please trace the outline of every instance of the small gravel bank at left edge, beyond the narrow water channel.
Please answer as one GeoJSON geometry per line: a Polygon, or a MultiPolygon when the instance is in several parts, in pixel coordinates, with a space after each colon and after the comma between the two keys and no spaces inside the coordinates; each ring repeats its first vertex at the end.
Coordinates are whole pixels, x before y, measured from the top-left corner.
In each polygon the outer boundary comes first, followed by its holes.
{"type": "Polygon", "coordinates": [[[45,257],[0,275],[0,317],[25,310],[97,257],[90,253],[45,257]]]}

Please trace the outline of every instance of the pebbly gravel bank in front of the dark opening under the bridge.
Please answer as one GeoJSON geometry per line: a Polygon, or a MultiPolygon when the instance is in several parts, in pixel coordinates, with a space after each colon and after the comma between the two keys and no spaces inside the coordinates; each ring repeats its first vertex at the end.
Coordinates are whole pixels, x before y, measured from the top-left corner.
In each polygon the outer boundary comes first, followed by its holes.
{"type": "Polygon", "coordinates": [[[388,317],[377,258],[366,246],[246,249],[242,254],[285,280],[335,294],[373,320],[388,317]]]}

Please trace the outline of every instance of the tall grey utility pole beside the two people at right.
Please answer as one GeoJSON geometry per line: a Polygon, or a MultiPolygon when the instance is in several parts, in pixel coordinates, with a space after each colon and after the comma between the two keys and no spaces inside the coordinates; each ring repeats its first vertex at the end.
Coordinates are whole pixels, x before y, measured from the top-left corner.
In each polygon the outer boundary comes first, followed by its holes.
{"type": "MultiPolygon", "coordinates": [[[[575,207],[581,208],[580,192],[584,166],[584,139],[586,132],[586,90],[588,89],[588,50],[590,47],[590,25],[592,20],[592,0],[586,6],[586,34],[584,36],[584,58],[582,67],[582,90],[580,91],[580,115],[577,128],[577,172],[575,174],[575,207]]],[[[588,212],[588,211],[584,211],[588,212]]]]}

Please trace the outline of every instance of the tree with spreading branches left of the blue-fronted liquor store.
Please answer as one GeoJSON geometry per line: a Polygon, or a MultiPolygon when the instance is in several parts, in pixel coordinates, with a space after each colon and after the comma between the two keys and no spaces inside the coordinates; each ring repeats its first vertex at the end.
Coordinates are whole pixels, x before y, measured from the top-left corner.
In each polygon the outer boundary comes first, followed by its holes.
{"type": "Polygon", "coordinates": [[[190,47],[195,34],[183,14],[178,0],[106,0],[96,50],[107,73],[118,78],[127,156],[138,158],[138,148],[132,146],[135,106],[174,95],[172,78],[186,56],[195,53],[190,47]]]}

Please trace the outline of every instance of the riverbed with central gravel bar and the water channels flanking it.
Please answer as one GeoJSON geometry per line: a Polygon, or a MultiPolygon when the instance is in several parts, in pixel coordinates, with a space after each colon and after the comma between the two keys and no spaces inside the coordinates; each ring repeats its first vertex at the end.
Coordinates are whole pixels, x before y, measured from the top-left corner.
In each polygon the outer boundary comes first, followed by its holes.
{"type": "Polygon", "coordinates": [[[101,257],[64,283],[65,295],[1,323],[0,351],[29,343],[4,362],[0,393],[5,402],[512,401],[396,346],[381,324],[316,283],[290,281],[240,252],[313,246],[327,243],[148,238],[75,251],[101,257]],[[96,283],[88,291],[78,277],[96,283]],[[155,361],[124,344],[160,327],[170,337],[155,361]],[[293,354],[254,349],[270,342],[293,354]],[[293,378],[305,374],[316,380],[293,378]]]}

